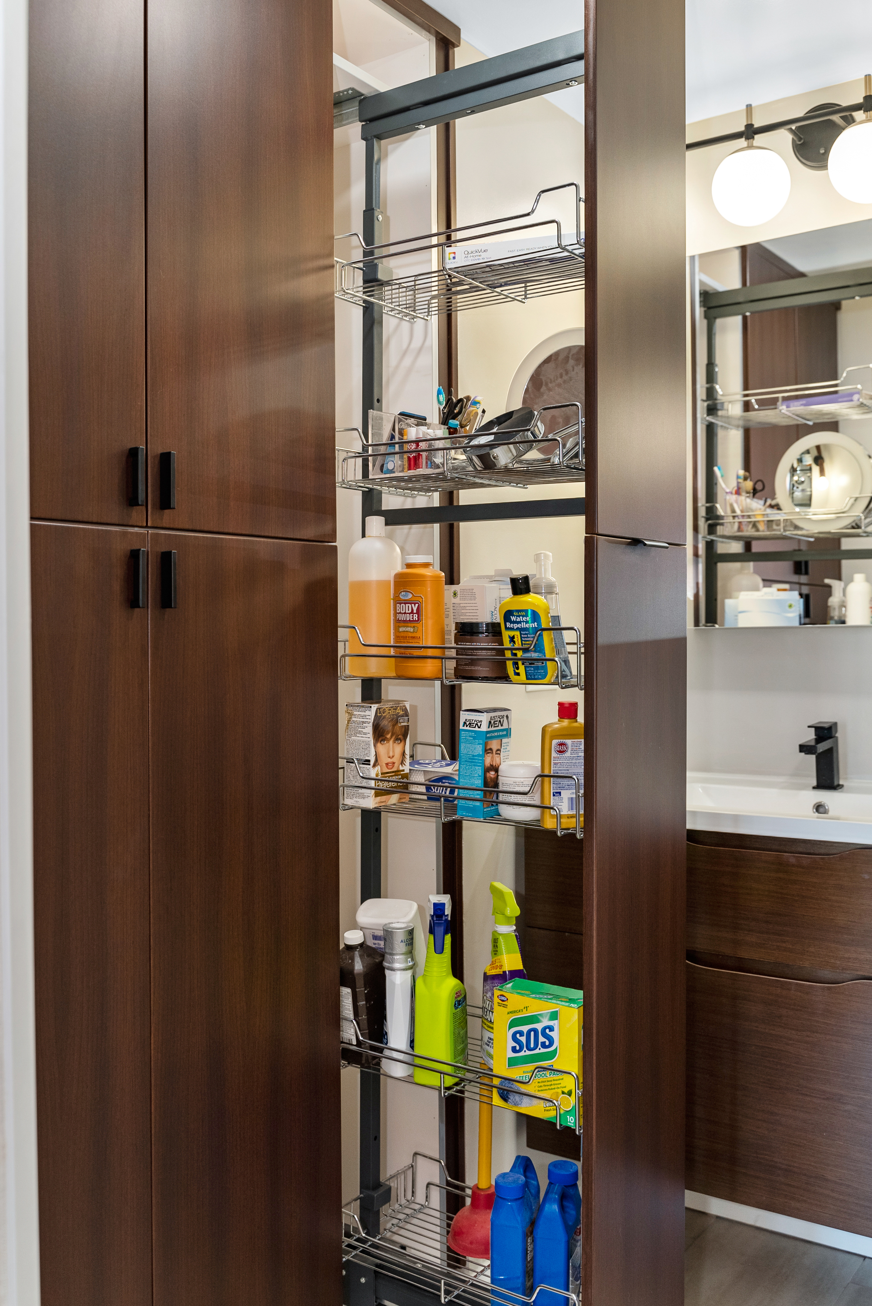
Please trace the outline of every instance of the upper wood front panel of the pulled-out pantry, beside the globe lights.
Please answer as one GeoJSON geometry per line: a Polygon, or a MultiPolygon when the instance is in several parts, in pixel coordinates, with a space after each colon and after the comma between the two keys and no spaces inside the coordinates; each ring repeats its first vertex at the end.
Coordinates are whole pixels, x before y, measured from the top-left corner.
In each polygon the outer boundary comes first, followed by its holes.
{"type": "Polygon", "coordinates": [[[584,16],[586,529],[683,545],[684,9],[586,0],[584,16]]]}

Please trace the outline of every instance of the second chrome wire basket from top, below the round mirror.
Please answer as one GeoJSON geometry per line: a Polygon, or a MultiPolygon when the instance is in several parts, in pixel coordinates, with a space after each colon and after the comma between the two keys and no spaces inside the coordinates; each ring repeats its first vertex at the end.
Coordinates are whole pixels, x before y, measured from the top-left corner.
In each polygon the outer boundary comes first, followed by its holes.
{"type": "Polygon", "coordinates": [[[480,447],[470,443],[479,432],[424,438],[414,448],[403,445],[399,436],[368,441],[356,426],[341,427],[337,434],[351,432],[360,440],[360,448],[337,448],[337,485],[343,490],[379,488],[384,494],[415,496],[493,486],[526,490],[585,479],[585,419],[578,402],[538,409],[527,426],[491,440],[484,457],[480,447]],[[538,434],[543,414],[567,409],[574,410],[574,421],[559,431],[538,434]],[[385,471],[385,466],[394,470],[385,471]]]}

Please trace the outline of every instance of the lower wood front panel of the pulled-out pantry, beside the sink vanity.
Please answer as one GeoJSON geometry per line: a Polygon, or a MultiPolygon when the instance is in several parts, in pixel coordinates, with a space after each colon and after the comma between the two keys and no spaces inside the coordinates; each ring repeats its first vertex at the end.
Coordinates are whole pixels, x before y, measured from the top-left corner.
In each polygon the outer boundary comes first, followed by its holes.
{"type": "Polygon", "coordinates": [[[685,579],[585,539],[585,1306],[684,1299],[685,579]]]}

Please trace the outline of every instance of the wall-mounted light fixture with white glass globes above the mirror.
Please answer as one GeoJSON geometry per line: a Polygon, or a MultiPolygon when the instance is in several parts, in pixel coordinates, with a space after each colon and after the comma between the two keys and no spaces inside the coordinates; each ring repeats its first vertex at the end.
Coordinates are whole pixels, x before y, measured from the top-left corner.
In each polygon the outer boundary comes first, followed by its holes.
{"type": "Polygon", "coordinates": [[[691,141],[688,150],[745,142],[719,163],[711,182],[711,199],[722,217],[736,226],[753,227],[781,213],[790,195],[790,170],[779,154],[757,145],[756,137],[782,131],[792,137],[794,157],[804,167],[828,168],[833,185],[846,200],[872,204],[872,76],[867,73],[863,99],[856,104],[816,104],[798,118],[760,127],[747,104],[741,132],[691,141]],[[859,123],[854,119],[856,112],[864,115],[859,123]]]}

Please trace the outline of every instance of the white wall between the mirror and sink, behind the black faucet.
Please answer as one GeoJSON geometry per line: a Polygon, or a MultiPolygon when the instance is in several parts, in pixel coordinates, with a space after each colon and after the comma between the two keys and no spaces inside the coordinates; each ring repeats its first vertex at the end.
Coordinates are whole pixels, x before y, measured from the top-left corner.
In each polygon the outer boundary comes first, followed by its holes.
{"type": "Polygon", "coordinates": [[[872,784],[872,629],[688,631],[688,771],[808,781],[812,721],[838,721],[842,780],[872,784]]]}

